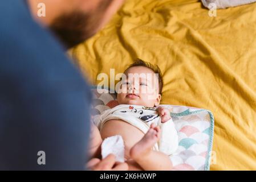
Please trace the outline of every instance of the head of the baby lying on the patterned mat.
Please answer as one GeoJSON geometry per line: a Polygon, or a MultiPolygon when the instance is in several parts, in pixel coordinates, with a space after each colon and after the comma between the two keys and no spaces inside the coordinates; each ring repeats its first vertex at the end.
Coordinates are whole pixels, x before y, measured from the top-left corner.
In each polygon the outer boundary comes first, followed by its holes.
{"type": "Polygon", "coordinates": [[[157,65],[137,59],[124,71],[117,93],[119,104],[155,107],[160,104],[162,74],[157,65]]]}

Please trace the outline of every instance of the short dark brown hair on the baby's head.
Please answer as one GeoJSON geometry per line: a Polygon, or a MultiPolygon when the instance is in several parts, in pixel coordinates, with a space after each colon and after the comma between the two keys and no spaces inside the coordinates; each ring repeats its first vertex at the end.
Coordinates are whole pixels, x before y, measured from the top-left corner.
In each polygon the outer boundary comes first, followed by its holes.
{"type": "MultiPolygon", "coordinates": [[[[158,78],[159,78],[159,94],[162,95],[162,85],[164,84],[164,81],[162,80],[162,72],[161,69],[154,64],[151,64],[149,62],[143,61],[141,59],[136,59],[134,63],[132,63],[131,65],[129,65],[129,68],[132,67],[147,67],[149,69],[151,69],[154,73],[158,74],[158,78]]],[[[127,69],[125,69],[125,71],[127,71],[127,69]]]]}

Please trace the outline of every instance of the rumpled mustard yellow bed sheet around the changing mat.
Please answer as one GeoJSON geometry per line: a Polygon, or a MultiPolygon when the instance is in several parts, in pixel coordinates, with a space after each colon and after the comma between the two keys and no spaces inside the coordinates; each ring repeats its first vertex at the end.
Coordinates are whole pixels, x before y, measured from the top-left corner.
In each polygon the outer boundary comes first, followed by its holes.
{"type": "Polygon", "coordinates": [[[85,77],[121,73],[139,57],[164,75],[162,104],[209,109],[211,170],[256,169],[256,3],[208,15],[196,0],[128,0],[71,53],[85,77]]]}

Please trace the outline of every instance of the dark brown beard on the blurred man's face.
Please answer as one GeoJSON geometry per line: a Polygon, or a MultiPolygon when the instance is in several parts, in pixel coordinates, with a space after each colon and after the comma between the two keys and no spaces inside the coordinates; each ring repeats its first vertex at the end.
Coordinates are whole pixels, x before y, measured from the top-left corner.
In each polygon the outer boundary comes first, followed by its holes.
{"type": "Polygon", "coordinates": [[[63,14],[51,23],[50,29],[64,46],[74,47],[96,34],[101,19],[111,2],[112,0],[103,0],[93,12],[84,13],[75,10],[72,13],[63,14]]]}

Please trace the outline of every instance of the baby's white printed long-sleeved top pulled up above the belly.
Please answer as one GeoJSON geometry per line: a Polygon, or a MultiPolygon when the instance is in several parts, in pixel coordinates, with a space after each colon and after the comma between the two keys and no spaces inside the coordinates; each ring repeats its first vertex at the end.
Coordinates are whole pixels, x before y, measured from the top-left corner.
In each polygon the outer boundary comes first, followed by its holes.
{"type": "Polygon", "coordinates": [[[118,105],[105,110],[99,117],[95,118],[94,122],[100,130],[109,119],[121,119],[137,127],[144,134],[149,130],[151,123],[155,123],[155,125],[160,126],[161,138],[153,149],[164,152],[166,155],[171,155],[177,150],[178,134],[172,119],[161,123],[161,117],[155,107],[118,105]]]}

